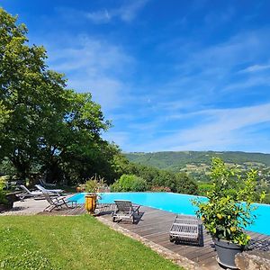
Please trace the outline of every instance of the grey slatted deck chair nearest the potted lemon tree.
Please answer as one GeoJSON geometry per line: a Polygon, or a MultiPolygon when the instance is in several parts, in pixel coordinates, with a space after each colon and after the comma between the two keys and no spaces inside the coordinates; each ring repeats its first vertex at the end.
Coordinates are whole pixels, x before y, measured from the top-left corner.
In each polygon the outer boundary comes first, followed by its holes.
{"type": "Polygon", "coordinates": [[[169,232],[171,242],[200,245],[202,222],[192,215],[177,215],[169,232]]]}

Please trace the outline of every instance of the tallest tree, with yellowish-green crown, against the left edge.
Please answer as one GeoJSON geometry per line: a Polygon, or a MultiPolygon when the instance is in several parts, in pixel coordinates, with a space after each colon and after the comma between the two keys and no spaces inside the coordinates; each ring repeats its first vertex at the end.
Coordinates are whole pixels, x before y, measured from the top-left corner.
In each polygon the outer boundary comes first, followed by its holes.
{"type": "Polygon", "coordinates": [[[55,93],[50,91],[45,49],[28,46],[26,32],[25,25],[16,25],[16,17],[0,9],[0,118],[5,116],[0,155],[8,157],[23,177],[38,150],[49,92],[55,93]]]}

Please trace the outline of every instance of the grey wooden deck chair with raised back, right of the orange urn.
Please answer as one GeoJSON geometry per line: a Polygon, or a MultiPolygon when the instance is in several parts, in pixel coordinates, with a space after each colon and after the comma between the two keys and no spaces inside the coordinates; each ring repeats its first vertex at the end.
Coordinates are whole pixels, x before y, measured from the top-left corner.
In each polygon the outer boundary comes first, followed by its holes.
{"type": "Polygon", "coordinates": [[[115,200],[116,210],[112,211],[112,221],[116,220],[132,220],[134,223],[135,214],[139,215],[139,204],[133,204],[130,201],[115,200]]]}

